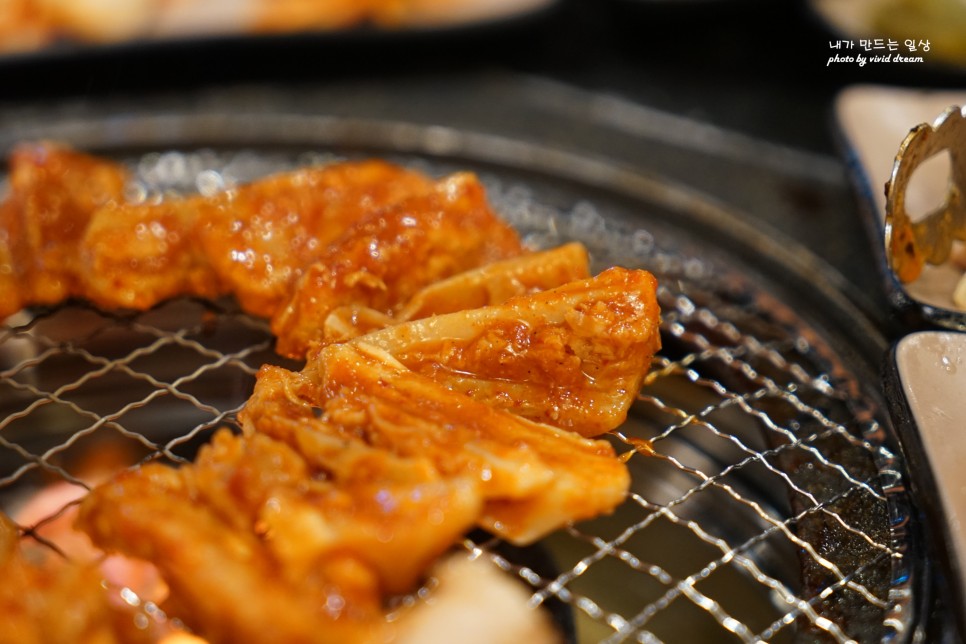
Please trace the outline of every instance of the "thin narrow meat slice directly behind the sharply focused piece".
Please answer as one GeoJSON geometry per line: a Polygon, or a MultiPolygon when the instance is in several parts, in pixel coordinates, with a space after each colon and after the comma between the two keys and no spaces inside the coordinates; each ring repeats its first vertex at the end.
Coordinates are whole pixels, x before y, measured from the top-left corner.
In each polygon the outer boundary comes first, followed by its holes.
{"type": "Polygon", "coordinates": [[[400,322],[502,304],[516,295],[545,291],[590,276],[587,249],[572,242],[528,253],[433,282],[395,316],[366,307],[343,306],[325,320],[323,344],[352,338],[400,322]]]}

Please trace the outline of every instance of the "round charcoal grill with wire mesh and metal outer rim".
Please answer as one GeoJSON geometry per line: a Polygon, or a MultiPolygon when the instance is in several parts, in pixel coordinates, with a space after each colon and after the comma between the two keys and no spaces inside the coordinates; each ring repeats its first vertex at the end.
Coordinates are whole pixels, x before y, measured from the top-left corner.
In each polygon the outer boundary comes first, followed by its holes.
{"type": "MultiPolygon", "coordinates": [[[[576,239],[597,269],[653,272],[664,348],[608,437],[633,476],[617,512],[543,540],[548,565],[486,535],[462,545],[579,642],[903,641],[919,628],[925,558],[876,387],[883,344],[800,248],[662,181],[438,127],[192,114],[19,135],[128,162],[135,197],[346,156],[476,171],[532,245],[576,239]]],[[[2,509],[82,486],[105,446],[132,463],[190,459],[235,424],[260,365],[299,367],[272,347],[232,301],[17,314],[0,329],[2,509]]],[[[23,538],[43,539],[44,523],[23,538]]]]}

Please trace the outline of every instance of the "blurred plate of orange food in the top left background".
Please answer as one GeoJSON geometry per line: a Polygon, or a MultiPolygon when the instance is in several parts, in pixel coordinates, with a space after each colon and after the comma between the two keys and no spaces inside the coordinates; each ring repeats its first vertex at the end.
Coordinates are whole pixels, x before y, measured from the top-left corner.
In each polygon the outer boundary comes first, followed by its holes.
{"type": "Polygon", "coordinates": [[[412,40],[508,28],[559,1],[12,0],[0,15],[0,62],[289,39],[412,40]]]}

